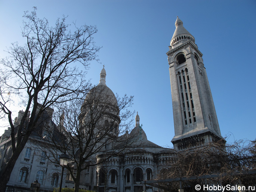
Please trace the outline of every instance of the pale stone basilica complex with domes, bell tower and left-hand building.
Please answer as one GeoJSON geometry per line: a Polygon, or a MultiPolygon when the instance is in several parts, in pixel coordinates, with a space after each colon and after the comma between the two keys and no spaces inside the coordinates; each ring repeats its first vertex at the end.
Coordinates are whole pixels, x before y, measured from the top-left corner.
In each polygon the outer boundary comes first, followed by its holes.
{"type": "MultiPolygon", "coordinates": [[[[223,139],[202,59],[203,55],[195,44],[195,38],[183,27],[183,22],[178,16],[175,26],[176,30],[166,53],[172,88],[175,128],[172,143],[174,148],[163,148],[149,141],[140,126],[137,112],[135,127],[129,133],[118,135],[119,138],[129,136],[133,138],[132,145],[129,146],[130,150],[127,148],[122,155],[103,161],[105,155],[115,147],[106,145],[105,151],[100,151],[93,156],[95,162],[102,163],[90,167],[82,173],[81,189],[98,192],[159,191],[160,189],[156,187],[144,186],[142,181],[156,179],[174,161],[175,151],[193,149],[223,139]]],[[[106,76],[107,72],[103,68],[100,72],[99,84],[92,91],[101,90],[101,93],[111,98],[108,106],[118,114],[117,99],[106,84],[106,76]]],[[[58,129],[58,125],[55,125],[51,119],[51,109],[48,109],[46,113],[48,115],[46,115],[47,125],[52,129],[58,129]]],[[[22,114],[20,111],[15,119],[17,126],[22,114]]],[[[82,121],[86,121],[86,114],[85,103],[81,107],[82,121]]],[[[102,121],[103,124],[113,124],[112,133],[118,133],[120,119],[115,115],[104,116],[102,121]]],[[[8,129],[0,138],[1,167],[8,161],[12,153],[9,137],[10,130],[8,129]]],[[[25,192],[35,180],[38,180],[44,191],[51,191],[52,188],[59,187],[61,167],[49,161],[43,153],[35,147],[33,140],[28,141],[12,171],[8,183],[9,191],[25,192]]],[[[62,187],[74,187],[74,181],[68,172],[64,175],[62,187]]]]}

